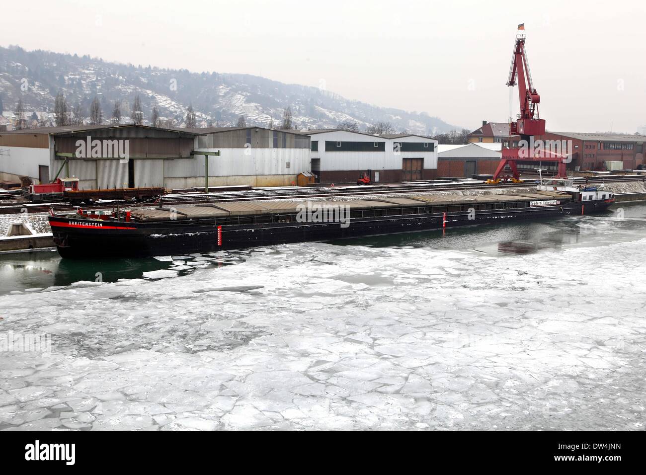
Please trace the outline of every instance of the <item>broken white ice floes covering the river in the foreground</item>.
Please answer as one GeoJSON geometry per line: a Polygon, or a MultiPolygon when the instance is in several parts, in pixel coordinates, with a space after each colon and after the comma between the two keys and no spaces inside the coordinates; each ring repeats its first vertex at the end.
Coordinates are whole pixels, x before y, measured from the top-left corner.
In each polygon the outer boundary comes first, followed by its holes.
{"type": "Polygon", "coordinates": [[[295,244],[5,295],[52,352],[0,354],[0,428],[643,429],[644,244],[295,244]]]}

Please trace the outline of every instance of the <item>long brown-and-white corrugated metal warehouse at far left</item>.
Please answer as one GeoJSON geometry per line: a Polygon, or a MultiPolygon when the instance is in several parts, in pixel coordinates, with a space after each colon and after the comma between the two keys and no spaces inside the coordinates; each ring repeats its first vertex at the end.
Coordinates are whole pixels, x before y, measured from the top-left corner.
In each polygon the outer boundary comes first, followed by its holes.
{"type": "Polygon", "coordinates": [[[0,180],[47,183],[67,175],[81,189],[176,189],[203,187],[208,171],[210,186],[290,185],[309,171],[309,155],[308,136],[260,127],[47,127],[0,133],[0,180]]]}

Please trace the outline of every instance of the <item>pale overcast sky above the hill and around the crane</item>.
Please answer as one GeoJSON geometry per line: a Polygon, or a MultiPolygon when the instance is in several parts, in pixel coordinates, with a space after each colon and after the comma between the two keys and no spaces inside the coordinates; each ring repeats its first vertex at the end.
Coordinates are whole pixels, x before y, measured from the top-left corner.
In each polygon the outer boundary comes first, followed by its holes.
{"type": "Polygon", "coordinates": [[[644,1],[30,0],[1,12],[5,47],[256,74],[468,129],[507,120],[525,23],[548,130],[646,126],[644,1]]]}

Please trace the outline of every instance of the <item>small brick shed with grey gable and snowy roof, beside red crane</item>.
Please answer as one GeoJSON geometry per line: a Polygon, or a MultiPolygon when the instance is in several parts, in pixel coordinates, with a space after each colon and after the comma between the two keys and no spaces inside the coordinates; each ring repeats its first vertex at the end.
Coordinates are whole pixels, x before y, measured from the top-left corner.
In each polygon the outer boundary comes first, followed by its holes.
{"type": "Polygon", "coordinates": [[[437,176],[472,178],[474,174],[494,174],[500,163],[502,143],[438,145],[437,176]]]}

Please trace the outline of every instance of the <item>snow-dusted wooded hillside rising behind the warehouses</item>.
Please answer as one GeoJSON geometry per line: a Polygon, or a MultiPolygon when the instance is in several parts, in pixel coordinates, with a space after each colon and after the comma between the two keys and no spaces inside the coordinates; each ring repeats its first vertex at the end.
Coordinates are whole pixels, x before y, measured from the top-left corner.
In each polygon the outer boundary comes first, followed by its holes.
{"type": "Polygon", "coordinates": [[[98,96],[106,121],[112,116],[115,101],[120,101],[124,123],[129,121],[134,96],[139,94],[147,121],[156,105],[163,120],[172,119],[179,127],[185,122],[187,107],[193,104],[198,126],[234,125],[239,116],[244,116],[247,125],[266,127],[273,121],[278,126],[289,106],[293,125],[298,128],[336,127],[349,121],[365,129],[384,121],[397,132],[435,135],[455,129],[424,112],[376,107],[315,87],[248,74],[196,73],[19,47],[0,48],[0,106],[5,120],[12,115],[19,98],[25,104],[27,119],[34,111],[39,111],[39,116],[43,115],[41,111],[53,112],[59,91],[65,94],[70,107],[80,103],[86,117],[90,103],[98,96]]]}

